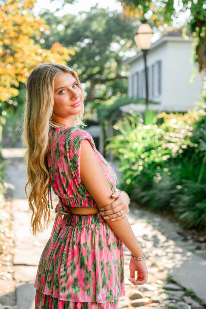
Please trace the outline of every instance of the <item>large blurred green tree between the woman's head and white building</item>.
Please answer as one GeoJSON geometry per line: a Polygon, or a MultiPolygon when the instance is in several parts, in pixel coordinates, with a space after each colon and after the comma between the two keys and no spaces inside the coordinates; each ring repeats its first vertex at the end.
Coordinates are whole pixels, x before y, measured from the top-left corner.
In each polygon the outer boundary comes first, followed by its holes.
{"type": "Polygon", "coordinates": [[[118,12],[93,6],[79,16],[54,16],[44,11],[41,17],[50,26],[44,33],[43,46],[49,49],[53,40],[73,49],[69,64],[78,72],[87,88],[86,111],[95,113],[102,101],[127,93],[127,66],[122,66],[128,51],[137,47],[133,40],[137,22],[127,21],[118,12]]]}

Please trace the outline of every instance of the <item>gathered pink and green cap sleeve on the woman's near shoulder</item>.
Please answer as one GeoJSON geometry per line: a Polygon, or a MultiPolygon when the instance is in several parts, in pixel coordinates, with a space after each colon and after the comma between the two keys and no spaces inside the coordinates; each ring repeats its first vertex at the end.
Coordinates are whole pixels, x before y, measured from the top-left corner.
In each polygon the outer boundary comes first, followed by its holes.
{"type": "Polygon", "coordinates": [[[87,131],[84,131],[80,128],[73,129],[71,132],[67,134],[66,139],[67,157],[68,161],[70,161],[71,173],[73,177],[76,179],[78,184],[81,183],[81,177],[80,177],[81,145],[85,139],[88,139],[88,141],[92,146],[92,149],[97,155],[97,150],[93,138],[87,131]]]}

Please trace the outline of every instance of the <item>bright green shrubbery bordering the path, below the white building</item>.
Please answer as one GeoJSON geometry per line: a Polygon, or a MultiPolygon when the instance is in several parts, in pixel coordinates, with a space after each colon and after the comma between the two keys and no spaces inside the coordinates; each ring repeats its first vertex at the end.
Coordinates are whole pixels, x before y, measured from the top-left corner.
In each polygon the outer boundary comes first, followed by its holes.
{"type": "Polygon", "coordinates": [[[186,228],[206,229],[206,113],[161,113],[145,125],[134,113],[115,123],[110,138],[131,201],[172,214],[186,228]]]}

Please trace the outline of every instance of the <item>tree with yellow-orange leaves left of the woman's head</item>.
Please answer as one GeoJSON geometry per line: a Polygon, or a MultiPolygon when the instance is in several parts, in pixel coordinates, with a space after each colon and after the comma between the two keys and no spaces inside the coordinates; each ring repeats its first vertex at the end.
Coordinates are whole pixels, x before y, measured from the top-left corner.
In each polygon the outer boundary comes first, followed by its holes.
{"type": "Polygon", "coordinates": [[[30,72],[39,64],[58,62],[67,64],[75,55],[55,42],[50,49],[41,47],[43,31],[49,26],[42,18],[32,15],[36,0],[5,0],[0,10],[0,101],[2,107],[11,106],[19,94],[19,84],[25,83],[30,72]],[[40,42],[36,42],[36,40],[40,42]],[[5,102],[3,104],[3,102],[5,102]],[[7,102],[7,105],[6,105],[7,102]]]}

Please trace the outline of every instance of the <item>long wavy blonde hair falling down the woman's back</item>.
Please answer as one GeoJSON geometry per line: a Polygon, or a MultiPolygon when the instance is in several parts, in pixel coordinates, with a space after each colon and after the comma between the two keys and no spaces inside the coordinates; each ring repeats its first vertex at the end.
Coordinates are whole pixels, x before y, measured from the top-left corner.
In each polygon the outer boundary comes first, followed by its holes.
{"type": "MultiPolygon", "coordinates": [[[[87,126],[81,120],[84,115],[84,91],[80,80],[75,71],[59,63],[44,63],[37,66],[28,76],[26,81],[26,101],[23,113],[23,129],[21,141],[27,148],[24,160],[27,164],[28,182],[25,186],[25,193],[28,198],[29,210],[32,210],[30,231],[36,236],[36,232],[48,229],[50,208],[48,208],[48,187],[49,172],[47,170],[46,153],[48,151],[48,134],[51,126],[55,125],[52,121],[54,107],[54,79],[62,72],[71,73],[78,81],[78,86],[83,93],[81,102],[81,112],[74,116],[74,125],[87,126]],[[27,186],[30,191],[27,193],[27,186]],[[44,225],[41,218],[44,217],[44,225]]],[[[28,211],[29,211],[28,210],[28,211]]]]}

